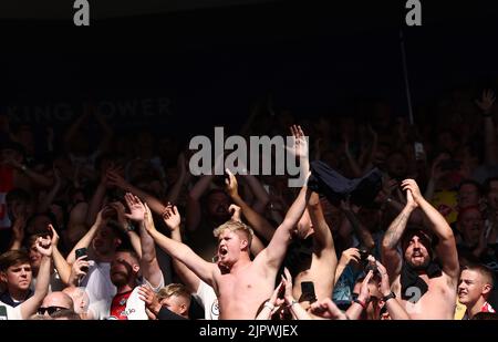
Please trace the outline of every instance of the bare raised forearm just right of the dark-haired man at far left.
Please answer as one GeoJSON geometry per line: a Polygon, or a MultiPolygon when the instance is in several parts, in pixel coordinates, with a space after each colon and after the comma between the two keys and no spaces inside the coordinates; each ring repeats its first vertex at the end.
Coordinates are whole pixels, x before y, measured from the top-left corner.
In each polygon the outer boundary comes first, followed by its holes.
{"type": "Polygon", "coordinates": [[[37,239],[37,249],[42,255],[42,259],[40,262],[40,269],[38,271],[37,277],[37,286],[34,288],[34,293],[21,305],[21,317],[27,320],[32,314],[34,314],[49,292],[49,283],[50,283],[50,271],[52,268],[52,241],[51,239],[38,238],[37,239]]]}

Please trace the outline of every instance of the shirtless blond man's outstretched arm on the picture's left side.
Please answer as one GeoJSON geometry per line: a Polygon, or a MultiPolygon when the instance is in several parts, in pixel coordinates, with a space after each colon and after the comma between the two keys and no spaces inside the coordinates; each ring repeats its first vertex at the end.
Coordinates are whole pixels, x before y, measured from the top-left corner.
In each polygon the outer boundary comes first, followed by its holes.
{"type": "Polygon", "coordinates": [[[204,282],[214,287],[215,272],[217,271],[217,266],[215,263],[205,261],[203,258],[197,256],[190,247],[164,236],[157,231],[154,226],[146,225],[145,228],[160,249],[163,249],[172,258],[178,259],[178,261],[185,263],[204,282]]]}

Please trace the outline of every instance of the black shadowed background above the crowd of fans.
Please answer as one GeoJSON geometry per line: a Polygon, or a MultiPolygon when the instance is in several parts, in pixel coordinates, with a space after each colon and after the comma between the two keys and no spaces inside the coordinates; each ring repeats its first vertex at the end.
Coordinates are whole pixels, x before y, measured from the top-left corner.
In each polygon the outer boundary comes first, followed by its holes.
{"type": "Polygon", "coordinates": [[[350,115],[369,99],[406,115],[401,30],[415,108],[456,87],[494,86],[496,4],[421,2],[413,28],[404,0],[226,1],[118,18],[91,1],[90,28],[73,25],[71,7],[53,19],[3,18],[0,105],[166,96],[172,115],[154,120],[189,133],[240,124],[268,92],[297,115],[350,115]]]}

